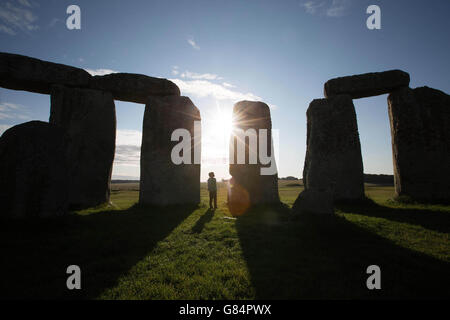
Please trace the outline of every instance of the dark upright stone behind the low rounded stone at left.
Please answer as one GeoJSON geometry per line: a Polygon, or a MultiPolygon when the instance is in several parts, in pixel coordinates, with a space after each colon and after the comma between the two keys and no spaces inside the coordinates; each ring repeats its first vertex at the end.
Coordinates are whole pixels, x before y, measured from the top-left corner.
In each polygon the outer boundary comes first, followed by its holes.
{"type": "Polygon", "coordinates": [[[50,123],[69,136],[70,205],[109,201],[116,144],[116,111],[110,93],[53,86],[50,123]]]}

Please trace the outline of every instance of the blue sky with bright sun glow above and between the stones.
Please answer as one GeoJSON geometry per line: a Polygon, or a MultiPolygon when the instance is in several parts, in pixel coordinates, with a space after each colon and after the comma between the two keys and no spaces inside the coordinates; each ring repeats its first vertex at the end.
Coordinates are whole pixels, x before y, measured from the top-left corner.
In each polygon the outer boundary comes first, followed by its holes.
{"type": "MultiPolygon", "coordinates": [[[[225,158],[233,103],[270,105],[279,130],[280,176],[301,177],[306,109],[331,78],[402,69],[411,87],[450,92],[450,1],[0,1],[0,51],[88,69],[173,79],[200,109],[202,180],[228,177],[225,158]],[[81,8],[81,30],[66,8],[81,8]],[[381,8],[368,30],[366,8],[381,8]]],[[[354,100],[364,171],[392,173],[386,95],[354,100]]],[[[116,102],[113,175],[139,176],[143,105],[116,102]]],[[[0,133],[48,121],[50,98],[0,89],[0,133]]]]}

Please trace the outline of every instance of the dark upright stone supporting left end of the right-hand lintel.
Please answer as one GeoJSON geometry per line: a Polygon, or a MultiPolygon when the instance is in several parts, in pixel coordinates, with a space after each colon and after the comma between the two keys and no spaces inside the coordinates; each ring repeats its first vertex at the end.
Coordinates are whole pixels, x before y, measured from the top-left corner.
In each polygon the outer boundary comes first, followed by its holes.
{"type": "Polygon", "coordinates": [[[307,115],[305,190],[334,190],[334,200],[364,197],[363,163],[353,101],[316,99],[307,115]]]}

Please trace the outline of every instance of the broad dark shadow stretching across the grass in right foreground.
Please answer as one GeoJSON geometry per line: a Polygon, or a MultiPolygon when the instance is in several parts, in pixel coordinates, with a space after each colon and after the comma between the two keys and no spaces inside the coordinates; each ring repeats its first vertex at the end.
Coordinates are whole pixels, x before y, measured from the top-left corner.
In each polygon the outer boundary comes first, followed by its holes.
{"type": "Polygon", "coordinates": [[[255,208],[238,218],[243,255],[258,299],[449,298],[449,264],[395,245],[341,216],[255,208]],[[381,290],[366,269],[381,268],[381,290]]]}

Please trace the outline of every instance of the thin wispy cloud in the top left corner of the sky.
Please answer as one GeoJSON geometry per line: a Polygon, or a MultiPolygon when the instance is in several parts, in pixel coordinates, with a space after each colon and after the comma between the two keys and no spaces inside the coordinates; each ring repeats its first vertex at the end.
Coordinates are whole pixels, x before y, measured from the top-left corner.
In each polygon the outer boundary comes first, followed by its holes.
{"type": "Polygon", "coordinates": [[[29,33],[39,29],[38,17],[31,11],[33,4],[27,0],[6,2],[0,5],[0,32],[16,35],[19,31],[29,33]]]}

